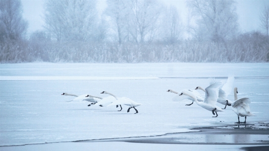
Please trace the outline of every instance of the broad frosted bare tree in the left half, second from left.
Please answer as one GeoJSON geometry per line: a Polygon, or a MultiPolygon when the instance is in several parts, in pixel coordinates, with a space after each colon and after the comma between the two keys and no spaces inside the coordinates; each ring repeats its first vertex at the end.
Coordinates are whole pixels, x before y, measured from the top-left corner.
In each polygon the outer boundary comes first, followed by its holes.
{"type": "Polygon", "coordinates": [[[48,0],[45,3],[45,28],[58,41],[95,37],[96,16],[96,1],[48,0]]]}

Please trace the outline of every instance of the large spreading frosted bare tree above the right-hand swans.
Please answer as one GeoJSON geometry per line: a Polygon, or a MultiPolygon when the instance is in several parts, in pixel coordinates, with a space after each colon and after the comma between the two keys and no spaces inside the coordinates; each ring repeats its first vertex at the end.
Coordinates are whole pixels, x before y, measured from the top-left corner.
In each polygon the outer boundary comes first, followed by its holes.
{"type": "Polygon", "coordinates": [[[234,1],[191,0],[187,6],[196,17],[197,38],[222,41],[236,33],[238,18],[234,1]]]}

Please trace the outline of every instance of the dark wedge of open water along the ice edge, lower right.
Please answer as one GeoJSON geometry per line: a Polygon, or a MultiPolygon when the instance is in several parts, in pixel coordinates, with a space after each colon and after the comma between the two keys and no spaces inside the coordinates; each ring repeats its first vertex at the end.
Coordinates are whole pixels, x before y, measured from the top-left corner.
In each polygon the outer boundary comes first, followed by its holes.
{"type": "MultiPolygon", "coordinates": [[[[76,142],[123,141],[158,144],[255,144],[269,145],[269,123],[235,124],[192,128],[183,133],[167,133],[158,136],[81,140],[76,142]],[[240,127],[241,126],[241,127],[240,127]],[[257,128],[263,126],[263,128],[257,128]]],[[[268,146],[269,147],[269,146],[268,146]]]]}

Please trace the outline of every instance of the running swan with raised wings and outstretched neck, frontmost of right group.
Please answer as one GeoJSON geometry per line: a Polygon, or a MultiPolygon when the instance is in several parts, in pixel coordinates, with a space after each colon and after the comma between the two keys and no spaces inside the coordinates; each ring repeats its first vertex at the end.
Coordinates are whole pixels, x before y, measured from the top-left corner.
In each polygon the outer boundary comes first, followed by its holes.
{"type": "Polygon", "coordinates": [[[220,107],[216,106],[218,99],[218,91],[220,89],[220,86],[222,86],[222,84],[223,84],[222,82],[216,82],[216,81],[214,81],[214,83],[211,82],[211,85],[205,88],[205,98],[203,102],[198,102],[197,98],[192,92],[183,92],[180,95],[188,95],[192,97],[197,105],[208,111],[211,111],[213,115],[215,115],[216,113],[216,116],[214,117],[218,117],[217,112],[223,112],[223,110],[220,107]]]}

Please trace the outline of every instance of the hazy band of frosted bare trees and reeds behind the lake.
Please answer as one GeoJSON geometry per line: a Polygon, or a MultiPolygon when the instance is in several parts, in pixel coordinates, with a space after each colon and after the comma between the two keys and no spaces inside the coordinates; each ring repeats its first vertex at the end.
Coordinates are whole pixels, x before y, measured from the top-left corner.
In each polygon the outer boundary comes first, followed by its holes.
{"type": "Polygon", "coordinates": [[[236,3],[190,0],[180,10],[156,0],[46,0],[43,30],[26,36],[20,0],[0,1],[0,62],[268,62],[268,6],[263,31],[240,32],[236,3]],[[189,36],[186,38],[185,34],[189,36]]]}

